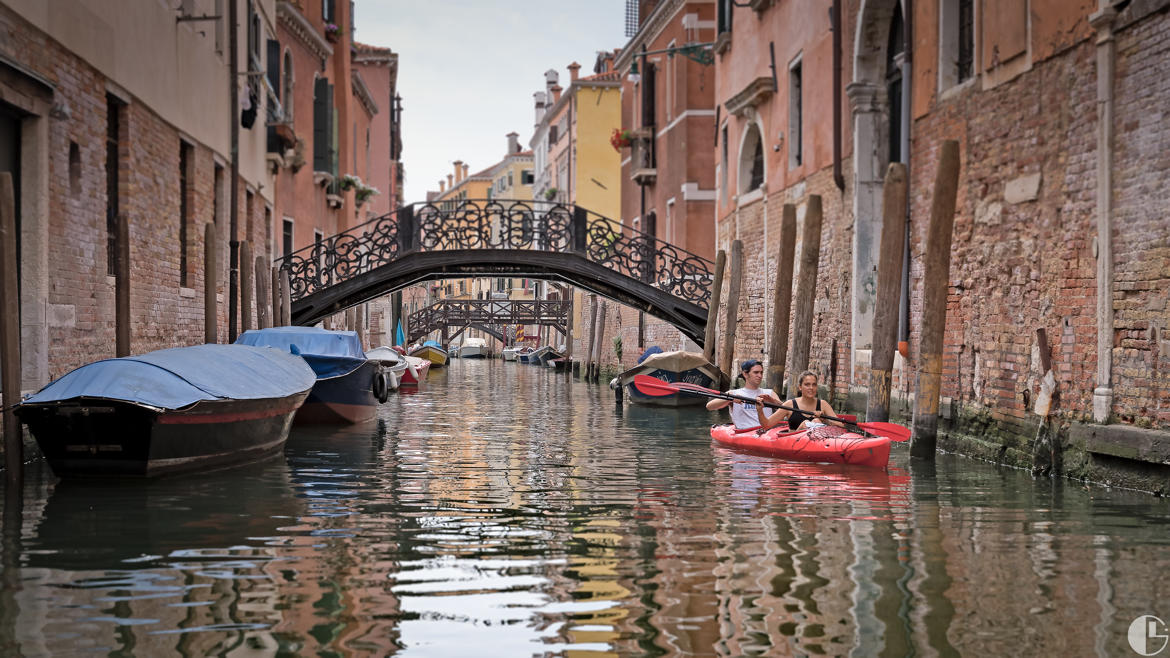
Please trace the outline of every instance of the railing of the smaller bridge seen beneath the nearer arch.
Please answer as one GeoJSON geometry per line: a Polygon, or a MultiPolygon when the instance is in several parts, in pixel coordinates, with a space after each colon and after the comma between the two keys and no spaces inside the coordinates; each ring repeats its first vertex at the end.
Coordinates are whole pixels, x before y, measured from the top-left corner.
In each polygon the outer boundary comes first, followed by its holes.
{"type": "Polygon", "coordinates": [[[441,300],[407,316],[406,338],[468,324],[545,324],[563,331],[571,309],[567,300],[441,300]]]}

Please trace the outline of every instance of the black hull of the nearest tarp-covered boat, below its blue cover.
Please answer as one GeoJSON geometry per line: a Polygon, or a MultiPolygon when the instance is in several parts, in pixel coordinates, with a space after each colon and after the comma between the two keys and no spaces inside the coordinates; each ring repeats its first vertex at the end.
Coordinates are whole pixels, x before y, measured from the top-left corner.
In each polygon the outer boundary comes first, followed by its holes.
{"type": "Polygon", "coordinates": [[[23,404],[16,412],[58,478],[150,478],[235,466],[278,452],[308,395],[201,400],[161,411],[80,398],[23,404]]]}

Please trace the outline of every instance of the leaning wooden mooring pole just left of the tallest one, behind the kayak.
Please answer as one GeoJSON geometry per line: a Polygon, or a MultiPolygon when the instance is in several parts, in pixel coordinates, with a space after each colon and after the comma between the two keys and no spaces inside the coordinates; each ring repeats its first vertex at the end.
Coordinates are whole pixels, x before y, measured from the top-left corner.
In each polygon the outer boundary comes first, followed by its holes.
{"type": "Polygon", "coordinates": [[[873,354],[869,359],[869,392],[866,420],[889,420],[889,396],[897,349],[897,311],[902,295],[902,252],[906,225],[906,165],[890,163],[882,186],[881,246],[878,260],[878,293],[874,296],[873,354]]]}

